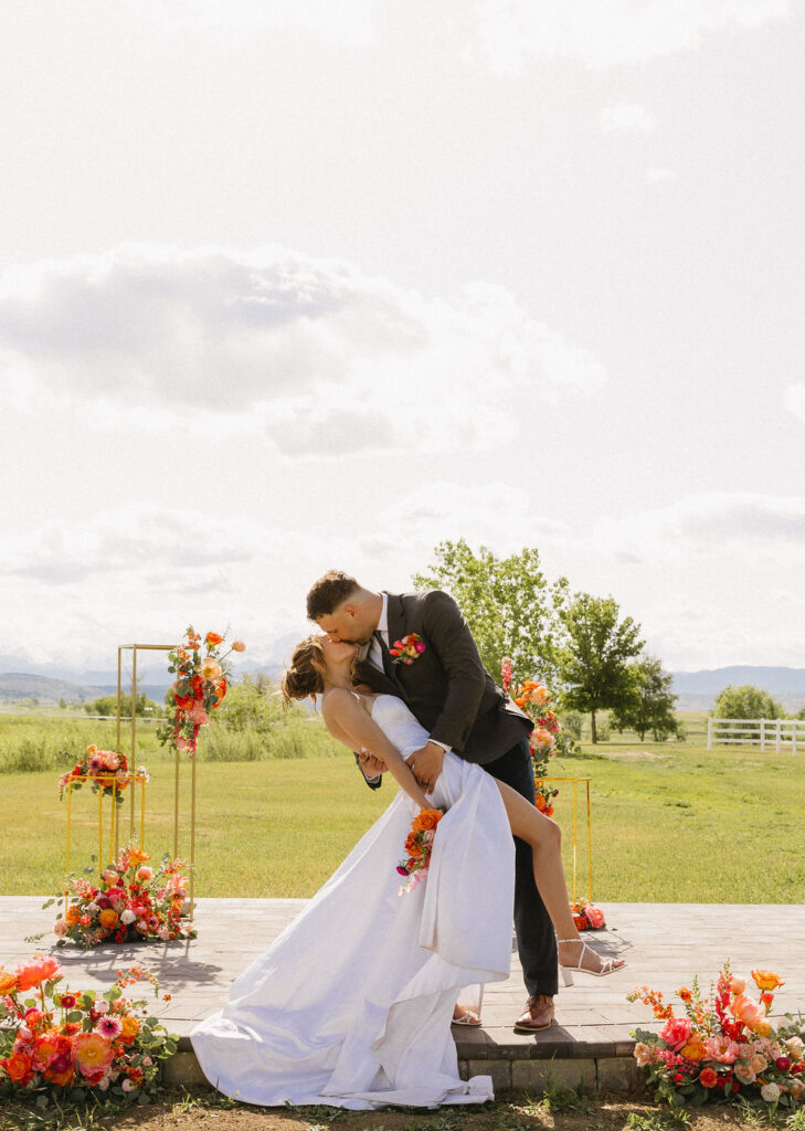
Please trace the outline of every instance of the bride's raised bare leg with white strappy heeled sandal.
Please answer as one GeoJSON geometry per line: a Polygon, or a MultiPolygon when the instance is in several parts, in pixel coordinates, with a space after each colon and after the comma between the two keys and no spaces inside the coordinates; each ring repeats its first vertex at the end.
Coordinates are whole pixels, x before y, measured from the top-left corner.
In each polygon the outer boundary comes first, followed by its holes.
{"type": "MultiPolygon", "coordinates": [[[[572,942],[559,943],[559,960],[562,965],[573,966],[579,961],[583,940],[579,935],[570,913],[570,897],[562,866],[562,831],[559,824],[540,813],[510,786],[503,782],[496,782],[496,785],[509,815],[511,831],[516,837],[526,840],[531,846],[534,879],[551,916],[556,938],[573,940],[572,942]]],[[[605,959],[589,948],[587,949],[583,969],[597,973],[605,965],[605,959]]],[[[623,965],[622,961],[613,962],[613,967],[623,965]]]]}

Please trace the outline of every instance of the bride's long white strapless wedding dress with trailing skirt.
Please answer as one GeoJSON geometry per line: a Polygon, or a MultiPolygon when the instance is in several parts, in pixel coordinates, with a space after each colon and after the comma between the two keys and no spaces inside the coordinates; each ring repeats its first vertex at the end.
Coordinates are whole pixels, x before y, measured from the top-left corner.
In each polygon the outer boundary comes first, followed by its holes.
{"type": "MultiPolygon", "coordinates": [[[[427,741],[405,703],[372,717],[407,756],[427,741]]],[[[191,1033],[205,1076],[266,1106],[436,1107],[493,1098],[462,1081],[450,1031],[462,986],[509,976],[514,852],[494,780],[447,754],[433,793],[445,808],[427,879],[397,893],[417,806],[400,791],[228,1003],[191,1033]]]]}

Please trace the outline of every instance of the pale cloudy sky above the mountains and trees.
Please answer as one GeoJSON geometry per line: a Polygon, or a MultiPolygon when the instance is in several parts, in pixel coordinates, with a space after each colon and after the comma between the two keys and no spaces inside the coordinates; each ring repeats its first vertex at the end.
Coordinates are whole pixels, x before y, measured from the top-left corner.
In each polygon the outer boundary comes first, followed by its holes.
{"type": "Polygon", "coordinates": [[[5,0],[0,670],[459,537],[805,666],[804,7],[5,0]]]}

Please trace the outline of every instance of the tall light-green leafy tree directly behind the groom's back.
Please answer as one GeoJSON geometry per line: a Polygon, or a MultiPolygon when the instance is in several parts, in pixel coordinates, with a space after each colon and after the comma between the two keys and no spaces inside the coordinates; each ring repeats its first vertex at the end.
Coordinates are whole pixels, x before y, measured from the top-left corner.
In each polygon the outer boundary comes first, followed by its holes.
{"type": "Polygon", "coordinates": [[[568,581],[560,578],[548,584],[534,549],[496,558],[486,546],[476,553],[459,538],[440,542],[434,555],[435,566],[427,573],[415,573],[413,584],[417,589],[444,589],[455,597],[492,679],[500,682],[501,659],[509,656],[514,671],[554,683],[559,613],[566,601],[568,581]]]}

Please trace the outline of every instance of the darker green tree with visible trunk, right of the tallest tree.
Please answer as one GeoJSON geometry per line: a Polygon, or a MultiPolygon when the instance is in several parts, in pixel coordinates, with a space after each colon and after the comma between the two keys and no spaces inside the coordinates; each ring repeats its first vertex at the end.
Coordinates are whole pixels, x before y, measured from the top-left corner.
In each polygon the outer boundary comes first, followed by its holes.
{"type": "Polygon", "coordinates": [[[559,653],[564,685],[562,705],[590,716],[592,742],[598,741],[596,714],[621,709],[633,690],[629,661],[643,647],[640,625],[631,616],[618,620],[612,597],[577,593],[561,612],[566,645],[559,653]]]}

